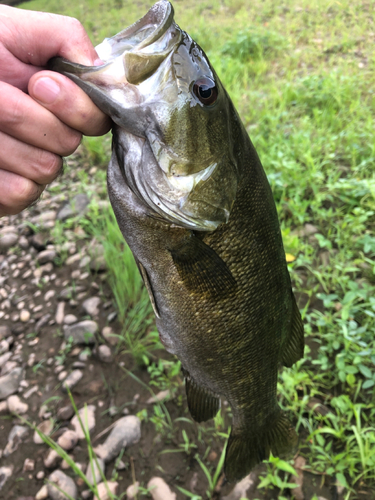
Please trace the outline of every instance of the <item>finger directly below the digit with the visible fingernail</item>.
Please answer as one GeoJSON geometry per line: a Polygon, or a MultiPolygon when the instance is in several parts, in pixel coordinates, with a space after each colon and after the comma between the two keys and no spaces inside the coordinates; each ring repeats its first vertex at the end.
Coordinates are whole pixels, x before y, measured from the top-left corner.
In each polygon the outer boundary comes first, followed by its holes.
{"type": "Polygon", "coordinates": [[[78,147],[81,134],[21,90],[0,82],[0,131],[59,156],[78,147]]]}

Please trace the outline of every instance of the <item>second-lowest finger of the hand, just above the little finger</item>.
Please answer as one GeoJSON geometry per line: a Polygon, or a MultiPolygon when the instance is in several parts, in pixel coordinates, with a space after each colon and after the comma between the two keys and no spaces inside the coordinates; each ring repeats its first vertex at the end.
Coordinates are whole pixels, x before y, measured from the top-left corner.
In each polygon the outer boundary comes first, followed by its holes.
{"type": "Polygon", "coordinates": [[[0,132],[0,169],[26,177],[37,184],[49,184],[59,175],[61,156],[30,146],[0,132]]]}

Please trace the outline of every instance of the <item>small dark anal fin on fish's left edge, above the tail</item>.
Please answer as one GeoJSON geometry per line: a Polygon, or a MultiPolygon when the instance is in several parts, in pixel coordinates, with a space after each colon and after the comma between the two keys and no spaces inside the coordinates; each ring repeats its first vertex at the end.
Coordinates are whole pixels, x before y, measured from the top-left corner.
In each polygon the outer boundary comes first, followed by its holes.
{"type": "Polygon", "coordinates": [[[205,422],[214,418],[220,409],[220,398],[209,389],[198,385],[189,372],[183,370],[183,373],[190,415],[196,422],[205,422]]]}

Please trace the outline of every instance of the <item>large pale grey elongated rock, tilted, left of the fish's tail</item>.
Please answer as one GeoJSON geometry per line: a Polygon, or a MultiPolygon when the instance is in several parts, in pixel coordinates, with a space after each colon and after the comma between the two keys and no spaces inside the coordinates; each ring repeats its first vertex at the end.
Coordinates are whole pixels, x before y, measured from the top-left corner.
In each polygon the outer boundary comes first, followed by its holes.
{"type": "Polygon", "coordinates": [[[111,433],[105,440],[95,448],[95,453],[105,462],[115,458],[120,451],[134,443],[141,437],[141,421],[134,415],[122,417],[117,420],[111,433]]]}

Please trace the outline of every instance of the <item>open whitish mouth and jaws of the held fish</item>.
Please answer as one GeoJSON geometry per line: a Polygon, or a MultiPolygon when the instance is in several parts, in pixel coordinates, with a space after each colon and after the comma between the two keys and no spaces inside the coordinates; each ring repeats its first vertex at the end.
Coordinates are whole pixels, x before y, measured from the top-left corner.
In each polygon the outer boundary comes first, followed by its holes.
{"type": "Polygon", "coordinates": [[[120,127],[144,137],[147,117],[133,108],[142,102],[137,86],[155,74],[182,39],[167,0],[154,4],[141,19],[96,47],[101,66],[84,66],[54,57],[48,67],[73,80],[120,127]],[[138,126],[134,126],[135,123],[138,126]]]}

